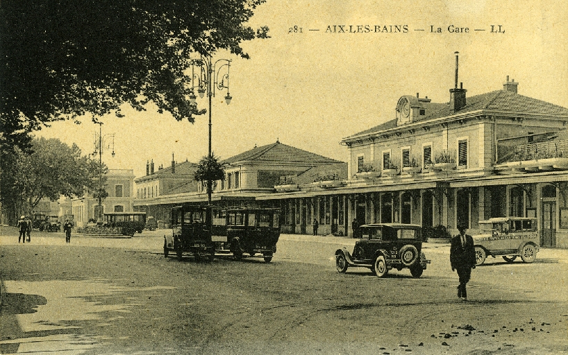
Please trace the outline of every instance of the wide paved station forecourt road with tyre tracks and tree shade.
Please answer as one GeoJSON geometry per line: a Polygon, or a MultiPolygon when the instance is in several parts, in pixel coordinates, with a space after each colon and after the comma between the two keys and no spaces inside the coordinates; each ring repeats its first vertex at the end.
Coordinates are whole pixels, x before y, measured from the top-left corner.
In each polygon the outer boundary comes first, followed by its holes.
{"type": "Polygon", "coordinates": [[[378,279],[335,272],[335,250],[355,241],[333,236],[283,235],[265,264],[164,259],[162,231],[70,245],[62,233],[17,245],[15,230],[0,232],[1,354],[568,351],[567,250],[543,249],[533,264],[488,259],[464,304],[448,245],[424,245],[432,264],[420,279],[378,279]]]}

